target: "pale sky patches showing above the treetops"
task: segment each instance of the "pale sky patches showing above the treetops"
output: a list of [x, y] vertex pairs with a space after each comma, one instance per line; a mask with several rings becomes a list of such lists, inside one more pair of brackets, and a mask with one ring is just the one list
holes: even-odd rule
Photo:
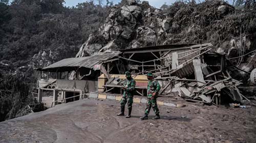
[[[86, 2], [87, 0], [65, 0], [66, 4], [64, 4], [67, 7], [76, 6], [78, 3]], [[118, 4], [121, 0], [110, 0], [110, 2], [113, 1], [114, 4]], [[175, 2], [175, 0], [147, 0], [151, 6], [154, 6], [156, 8], [160, 8], [164, 3], [167, 5], [171, 5]], [[97, 4], [97, 0], [95, 0], [95, 3]], [[103, 0], [105, 2], [105, 0]]]

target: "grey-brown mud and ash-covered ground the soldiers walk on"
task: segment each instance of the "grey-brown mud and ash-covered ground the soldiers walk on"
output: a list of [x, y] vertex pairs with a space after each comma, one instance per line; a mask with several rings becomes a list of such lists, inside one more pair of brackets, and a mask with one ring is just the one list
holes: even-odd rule
[[185, 104], [140, 121], [144, 104], [126, 119], [117, 101], [84, 99], [1, 122], [0, 142], [256, 142], [256, 108]]

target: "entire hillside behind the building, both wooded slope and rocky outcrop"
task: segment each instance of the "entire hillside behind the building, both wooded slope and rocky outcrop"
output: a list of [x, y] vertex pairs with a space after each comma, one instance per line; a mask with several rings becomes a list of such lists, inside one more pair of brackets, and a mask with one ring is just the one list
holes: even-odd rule
[[[73, 8], [63, 2], [0, 3], [2, 71], [23, 73], [34, 82], [33, 68], [98, 51], [211, 42], [217, 52], [232, 58], [256, 49], [253, 1], [245, 1], [239, 9], [216, 0], [176, 2], [162, 9], [135, 0], [115, 6], [90, 1]], [[250, 71], [254, 61], [245, 56], [232, 62]]]

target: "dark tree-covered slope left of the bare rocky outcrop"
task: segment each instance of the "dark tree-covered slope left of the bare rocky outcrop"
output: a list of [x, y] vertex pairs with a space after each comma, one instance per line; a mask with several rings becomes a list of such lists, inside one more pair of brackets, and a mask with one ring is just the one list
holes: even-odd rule
[[[5, 3], [4, 3], [5, 2]], [[90, 34], [97, 32], [109, 7], [93, 1], [76, 7], [63, 0], [14, 0], [0, 3], [0, 67], [22, 73], [34, 83], [33, 68], [74, 57]]]

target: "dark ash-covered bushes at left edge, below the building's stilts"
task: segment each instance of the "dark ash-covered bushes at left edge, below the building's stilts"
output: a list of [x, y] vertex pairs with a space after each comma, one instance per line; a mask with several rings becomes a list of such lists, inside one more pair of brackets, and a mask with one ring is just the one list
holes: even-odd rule
[[29, 84], [22, 75], [0, 73], [0, 121], [17, 118], [44, 108], [29, 93]]

